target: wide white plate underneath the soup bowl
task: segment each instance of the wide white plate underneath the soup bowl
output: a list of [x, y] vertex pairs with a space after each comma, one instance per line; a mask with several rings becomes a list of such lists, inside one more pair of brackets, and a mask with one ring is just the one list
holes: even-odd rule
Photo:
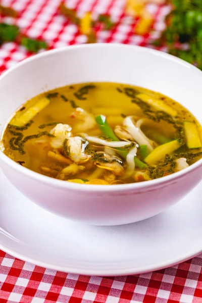
[[165, 268], [202, 252], [201, 184], [161, 215], [100, 227], [48, 213], [0, 172], [0, 248], [39, 266], [85, 275], [118, 276]]

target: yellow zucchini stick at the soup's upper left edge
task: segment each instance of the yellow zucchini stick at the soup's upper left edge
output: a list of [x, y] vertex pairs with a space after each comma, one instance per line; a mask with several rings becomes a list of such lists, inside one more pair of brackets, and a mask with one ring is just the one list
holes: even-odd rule
[[11, 124], [19, 127], [25, 126], [25, 124], [32, 120], [34, 116], [42, 111], [49, 103], [50, 100], [48, 98], [41, 98], [34, 106], [30, 107], [22, 115], [14, 118], [14, 120], [11, 121]]

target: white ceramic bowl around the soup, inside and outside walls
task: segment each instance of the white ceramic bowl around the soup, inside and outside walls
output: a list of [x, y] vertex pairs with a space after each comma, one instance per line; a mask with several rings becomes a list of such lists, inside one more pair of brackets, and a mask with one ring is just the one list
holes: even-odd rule
[[[27, 99], [79, 82], [120, 82], [160, 91], [188, 108], [201, 122], [202, 73], [153, 49], [120, 44], [68, 46], [33, 56], [0, 77], [0, 133]], [[201, 179], [202, 160], [170, 176], [123, 185], [82, 185], [45, 177], [0, 151], [5, 176], [48, 211], [94, 225], [136, 222], [165, 211]]]

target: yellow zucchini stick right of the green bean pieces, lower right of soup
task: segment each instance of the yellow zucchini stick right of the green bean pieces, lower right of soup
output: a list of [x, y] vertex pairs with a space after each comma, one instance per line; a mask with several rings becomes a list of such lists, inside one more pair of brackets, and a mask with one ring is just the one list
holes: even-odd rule
[[171, 142], [162, 144], [157, 148], [153, 149], [151, 153], [144, 159], [148, 165], [155, 165], [158, 161], [162, 160], [166, 154], [171, 154], [173, 151], [180, 147], [179, 140], [173, 140]]

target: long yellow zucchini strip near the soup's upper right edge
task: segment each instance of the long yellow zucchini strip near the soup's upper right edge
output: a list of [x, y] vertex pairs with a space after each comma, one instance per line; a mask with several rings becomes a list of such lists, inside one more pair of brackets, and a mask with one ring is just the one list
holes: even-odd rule
[[155, 108], [157, 111], [165, 112], [166, 114], [176, 117], [177, 111], [165, 104], [162, 100], [149, 96], [146, 93], [137, 94], [137, 98]]

